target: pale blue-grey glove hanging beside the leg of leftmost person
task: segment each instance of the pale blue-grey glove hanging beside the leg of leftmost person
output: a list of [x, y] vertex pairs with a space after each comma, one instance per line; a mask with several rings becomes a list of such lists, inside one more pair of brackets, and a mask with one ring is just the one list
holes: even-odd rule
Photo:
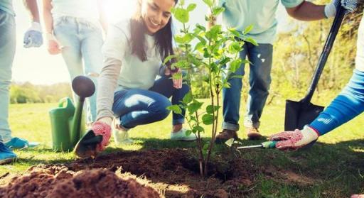
[[41, 23], [31, 23], [31, 28], [24, 35], [24, 48], [40, 47], [43, 44]]

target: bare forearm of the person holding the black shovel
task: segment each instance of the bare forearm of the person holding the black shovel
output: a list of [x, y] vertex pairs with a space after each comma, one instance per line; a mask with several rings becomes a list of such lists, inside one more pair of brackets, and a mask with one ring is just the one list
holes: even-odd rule
[[289, 16], [301, 21], [316, 21], [326, 18], [325, 6], [316, 5], [309, 1], [304, 1], [299, 6], [286, 10]]

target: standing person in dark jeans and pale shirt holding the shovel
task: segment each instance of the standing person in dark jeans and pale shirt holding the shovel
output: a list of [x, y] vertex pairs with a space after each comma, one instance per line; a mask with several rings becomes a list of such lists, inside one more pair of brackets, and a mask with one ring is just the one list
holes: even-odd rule
[[[343, 6], [348, 11], [353, 11], [357, 0], [333, 0], [326, 6], [319, 6], [305, 0], [281, 0], [286, 7], [289, 16], [301, 21], [314, 21], [322, 18], [330, 18], [336, 15], [338, 6]], [[220, 0], [223, 11], [223, 26], [235, 28], [240, 32], [238, 40], [253, 38], [258, 45], [245, 43], [244, 49], [240, 53], [240, 58], [250, 61], [249, 76], [249, 96], [247, 99], [247, 112], [244, 119], [247, 137], [250, 139], [260, 138], [258, 131], [260, 117], [264, 109], [265, 102], [269, 95], [269, 86], [272, 81], [272, 57], [273, 43], [277, 31], [277, 20], [275, 14], [279, 1], [235, 1]], [[210, 24], [211, 25], [211, 24]], [[252, 25], [252, 31], [244, 34], [245, 28]], [[228, 68], [229, 65], [226, 65]], [[244, 75], [244, 65], [232, 75]], [[221, 143], [230, 138], [237, 138], [240, 119], [240, 94], [242, 89], [242, 79], [228, 79], [230, 88], [223, 89], [223, 131], [216, 136], [215, 141]]]

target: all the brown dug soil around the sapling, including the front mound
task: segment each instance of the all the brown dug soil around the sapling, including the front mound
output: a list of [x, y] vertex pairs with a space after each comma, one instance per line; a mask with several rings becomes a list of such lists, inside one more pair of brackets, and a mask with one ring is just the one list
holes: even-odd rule
[[1, 187], [0, 197], [246, 197], [259, 173], [272, 174], [250, 160], [217, 156], [220, 161], [209, 165], [209, 176], [203, 179], [190, 151], [118, 152], [93, 160], [38, 165]]

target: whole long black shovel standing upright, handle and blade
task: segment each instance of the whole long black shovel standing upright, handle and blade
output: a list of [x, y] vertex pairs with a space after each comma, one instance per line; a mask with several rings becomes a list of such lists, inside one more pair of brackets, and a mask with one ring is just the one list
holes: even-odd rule
[[331, 26], [330, 33], [326, 39], [326, 43], [323, 46], [323, 51], [319, 58], [319, 63], [316, 66], [314, 77], [312, 78], [309, 91], [306, 96], [300, 101], [286, 100], [286, 114], [284, 119], [284, 131], [294, 131], [296, 128], [304, 128], [306, 124], [314, 121], [317, 116], [323, 111], [323, 106], [318, 106], [311, 103], [312, 96], [319, 82], [323, 67], [325, 67], [326, 60], [330, 54], [333, 42], [335, 41], [338, 29], [341, 26], [346, 10], [343, 6], [339, 6], [336, 12], [333, 25]]

